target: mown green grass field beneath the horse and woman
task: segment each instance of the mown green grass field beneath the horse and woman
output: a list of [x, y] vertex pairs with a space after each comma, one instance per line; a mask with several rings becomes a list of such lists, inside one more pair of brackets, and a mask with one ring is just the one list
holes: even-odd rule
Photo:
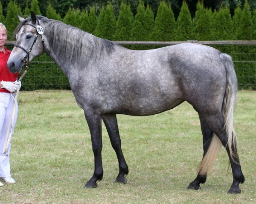
[[118, 116], [122, 149], [130, 173], [116, 184], [118, 163], [103, 125], [104, 176], [84, 189], [93, 175], [90, 134], [71, 91], [22, 91], [12, 141], [16, 184], [0, 187], [0, 204], [255, 204], [256, 91], [239, 91], [235, 129], [245, 183], [229, 195], [232, 174], [222, 148], [201, 190], [187, 190], [201, 161], [197, 113], [184, 102], [154, 116]]

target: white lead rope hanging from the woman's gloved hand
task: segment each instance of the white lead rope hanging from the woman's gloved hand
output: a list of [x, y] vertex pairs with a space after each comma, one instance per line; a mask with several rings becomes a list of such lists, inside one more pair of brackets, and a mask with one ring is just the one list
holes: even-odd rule
[[[29, 68], [29, 64], [26, 65], [26, 67], [27, 67], [27, 69], [23, 72], [23, 74], [20, 76], [18, 81], [20, 81], [25, 76], [25, 74], [27, 73], [27, 70]], [[11, 96], [14, 99], [14, 103], [12, 104], [12, 113], [11, 113], [11, 118], [10, 118], [8, 129], [7, 129], [6, 141], [5, 141], [4, 147], [3, 147], [3, 154], [7, 153], [10, 141], [12, 139], [12, 134], [13, 134], [13, 130], [14, 130], [14, 122], [15, 122], [16, 103], [17, 103], [17, 98], [18, 98], [18, 95], [19, 95], [19, 91], [20, 90], [16, 91], [15, 97], [12, 96], [12, 93], [11, 93]]]

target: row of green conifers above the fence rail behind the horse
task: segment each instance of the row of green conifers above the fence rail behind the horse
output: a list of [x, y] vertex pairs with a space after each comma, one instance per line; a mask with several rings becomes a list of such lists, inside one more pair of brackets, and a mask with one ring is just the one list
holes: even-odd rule
[[[32, 0], [31, 8], [26, 6], [24, 13], [15, 1], [11, 0], [6, 17], [3, 16], [0, 4], [0, 22], [12, 33], [19, 23], [17, 14], [26, 17], [30, 11], [41, 14], [38, 0]], [[130, 6], [124, 2], [121, 3], [117, 19], [111, 4], [102, 7], [99, 16], [96, 15], [94, 7], [90, 8], [90, 11], [69, 8], [61, 19], [60, 14], [57, 14], [49, 3], [46, 16], [108, 40], [256, 40], [256, 9], [252, 14], [247, 1], [243, 9], [240, 6], [235, 9], [233, 17], [227, 7], [212, 12], [210, 8], [205, 8], [202, 2], [198, 2], [195, 18], [192, 19], [186, 1], [183, 1], [177, 19], [171, 6], [165, 1], [160, 3], [155, 18], [152, 9], [145, 7], [143, 3], [139, 4], [137, 13], [133, 16]]]

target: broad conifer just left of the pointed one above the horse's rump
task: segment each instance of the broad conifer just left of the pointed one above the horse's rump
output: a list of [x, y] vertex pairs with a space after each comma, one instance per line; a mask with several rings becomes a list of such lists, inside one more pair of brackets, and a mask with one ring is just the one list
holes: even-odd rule
[[162, 1], [157, 9], [152, 39], [156, 41], [172, 41], [175, 39], [175, 17], [170, 6]]

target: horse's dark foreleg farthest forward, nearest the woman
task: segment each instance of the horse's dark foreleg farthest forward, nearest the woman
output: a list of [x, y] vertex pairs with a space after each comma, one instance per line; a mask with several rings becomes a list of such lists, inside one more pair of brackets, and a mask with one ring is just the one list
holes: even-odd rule
[[92, 178], [87, 181], [85, 187], [96, 188], [97, 181], [103, 177], [102, 168], [102, 117], [93, 111], [84, 111], [87, 124], [90, 129], [91, 141], [94, 154], [94, 172]]

